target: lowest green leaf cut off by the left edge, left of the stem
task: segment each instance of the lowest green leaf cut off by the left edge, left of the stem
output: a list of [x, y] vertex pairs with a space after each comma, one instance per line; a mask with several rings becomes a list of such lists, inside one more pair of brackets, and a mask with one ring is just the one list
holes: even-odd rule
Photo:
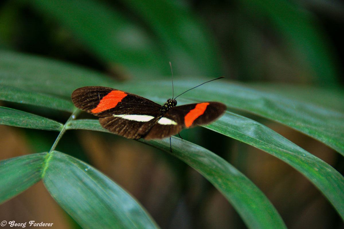
[[41, 180], [46, 153], [0, 161], [0, 203]]

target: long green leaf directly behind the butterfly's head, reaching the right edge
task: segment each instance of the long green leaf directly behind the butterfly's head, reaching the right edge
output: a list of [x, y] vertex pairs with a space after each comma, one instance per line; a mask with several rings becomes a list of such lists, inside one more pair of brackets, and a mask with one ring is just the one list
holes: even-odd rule
[[[182, 98], [178, 97], [178, 104], [194, 101], [220, 101], [229, 108], [257, 114], [290, 126], [344, 155], [344, 113], [305, 100], [283, 97], [278, 93], [258, 91], [244, 85], [219, 81], [202, 85], [197, 87], [197, 90], [183, 94]], [[175, 93], [177, 89], [183, 92], [200, 83], [202, 81], [175, 80]], [[125, 87], [153, 101], [158, 99], [163, 101], [163, 95], [168, 94], [166, 92], [168, 85], [171, 85], [168, 81], [150, 81], [130, 83]], [[154, 95], [149, 89], [154, 89]], [[185, 100], [185, 97], [188, 100]]]

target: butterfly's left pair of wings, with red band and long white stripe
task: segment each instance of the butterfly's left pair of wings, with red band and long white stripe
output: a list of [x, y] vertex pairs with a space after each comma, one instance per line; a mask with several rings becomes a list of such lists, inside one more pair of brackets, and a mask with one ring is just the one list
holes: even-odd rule
[[161, 105], [147, 98], [110, 87], [81, 87], [72, 93], [76, 107], [99, 116], [103, 128], [120, 136], [139, 139], [160, 114]]

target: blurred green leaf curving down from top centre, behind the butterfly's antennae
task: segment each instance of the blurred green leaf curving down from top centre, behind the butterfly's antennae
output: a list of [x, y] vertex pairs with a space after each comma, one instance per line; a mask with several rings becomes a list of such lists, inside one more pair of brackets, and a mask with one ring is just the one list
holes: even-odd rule
[[[168, 0], [121, 2], [138, 14], [161, 39], [174, 72], [211, 77], [220, 74], [215, 39], [187, 4]], [[166, 63], [162, 67], [169, 70]]]

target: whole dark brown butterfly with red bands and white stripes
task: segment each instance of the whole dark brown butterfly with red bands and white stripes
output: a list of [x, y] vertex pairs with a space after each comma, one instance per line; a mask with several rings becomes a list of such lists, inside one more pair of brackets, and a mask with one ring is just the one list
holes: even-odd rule
[[99, 117], [100, 125], [130, 139], [161, 139], [179, 134], [183, 128], [207, 124], [226, 110], [218, 102], [176, 106], [168, 99], [159, 105], [147, 98], [110, 87], [80, 87], [72, 93], [74, 105]]

